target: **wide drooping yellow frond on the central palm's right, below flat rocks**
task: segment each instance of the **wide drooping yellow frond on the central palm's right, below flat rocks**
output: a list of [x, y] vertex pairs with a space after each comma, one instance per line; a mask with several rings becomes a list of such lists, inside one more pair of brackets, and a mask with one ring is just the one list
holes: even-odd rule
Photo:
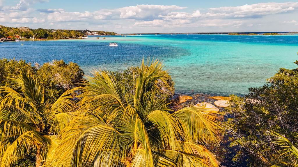
[[181, 135], [187, 142], [219, 144], [218, 111], [204, 107], [187, 107], [172, 114], [180, 124]]

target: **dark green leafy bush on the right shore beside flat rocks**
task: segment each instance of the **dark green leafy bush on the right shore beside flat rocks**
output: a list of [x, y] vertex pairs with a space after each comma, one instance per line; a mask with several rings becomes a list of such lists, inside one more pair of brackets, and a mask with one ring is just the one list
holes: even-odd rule
[[271, 166], [278, 150], [271, 131], [298, 145], [298, 69], [281, 68], [267, 85], [250, 92], [245, 98], [232, 96], [227, 132], [231, 145], [240, 149], [235, 160], [244, 157], [250, 166]]

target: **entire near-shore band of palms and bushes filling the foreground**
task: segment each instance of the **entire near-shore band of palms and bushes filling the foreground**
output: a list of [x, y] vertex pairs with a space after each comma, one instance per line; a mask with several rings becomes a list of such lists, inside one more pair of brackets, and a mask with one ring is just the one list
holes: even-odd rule
[[298, 167], [298, 68], [249, 91], [190, 105], [158, 60], [86, 76], [0, 59], [0, 167]]

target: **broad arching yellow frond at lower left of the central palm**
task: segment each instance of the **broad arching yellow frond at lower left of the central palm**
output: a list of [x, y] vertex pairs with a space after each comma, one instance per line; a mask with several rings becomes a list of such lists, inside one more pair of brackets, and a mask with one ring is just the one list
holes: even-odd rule
[[119, 132], [97, 116], [72, 120], [60, 136], [55, 156], [50, 156], [57, 159], [49, 160], [49, 166], [113, 166], [111, 162], [117, 164], [120, 160]]

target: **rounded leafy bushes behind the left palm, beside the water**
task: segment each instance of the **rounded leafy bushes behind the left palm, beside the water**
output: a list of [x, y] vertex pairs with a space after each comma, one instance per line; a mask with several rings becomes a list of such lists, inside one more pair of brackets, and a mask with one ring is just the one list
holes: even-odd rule
[[80, 86], [84, 82], [83, 71], [73, 62], [66, 64], [63, 60], [31, 66], [23, 60], [0, 59], [0, 86], [9, 86], [9, 77], [18, 76], [24, 71], [41, 82], [47, 101], [55, 101], [67, 89]]

